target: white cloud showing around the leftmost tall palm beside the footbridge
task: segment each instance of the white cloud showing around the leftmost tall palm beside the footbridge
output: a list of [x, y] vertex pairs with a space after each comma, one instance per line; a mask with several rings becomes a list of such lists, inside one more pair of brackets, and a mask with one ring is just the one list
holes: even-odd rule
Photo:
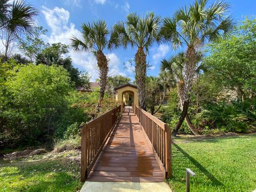
[[[44, 17], [47, 25], [51, 28], [51, 33], [49, 36], [44, 37], [44, 41], [49, 43], [64, 43], [70, 44], [70, 37], [72, 35], [77, 38], [82, 38], [81, 32], [76, 29], [74, 23], [68, 23], [69, 12], [63, 8], [54, 7], [54, 9], [48, 9], [43, 7]], [[50, 19], [52, 18], [52, 20]], [[75, 53], [70, 51], [70, 57], [76, 66], [79, 66], [86, 71], [88, 71], [91, 76], [91, 81], [95, 81], [98, 78], [98, 68], [97, 61], [89, 52], [79, 52]], [[121, 61], [115, 53], [108, 53], [106, 57], [109, 59], [109, 76], [114, 75], [125, 75], [120, 66]]]

